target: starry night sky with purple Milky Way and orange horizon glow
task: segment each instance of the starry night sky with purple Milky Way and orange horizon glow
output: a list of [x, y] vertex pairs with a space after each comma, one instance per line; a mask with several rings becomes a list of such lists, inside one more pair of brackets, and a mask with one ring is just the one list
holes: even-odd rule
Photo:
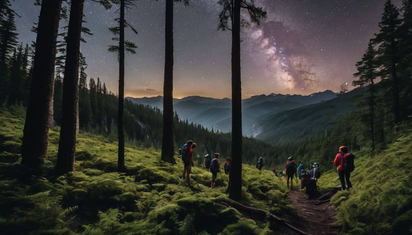
[[[174, 97], [231, 96], [231, 34], [218, 31], [218, 0], [191, 0], [190, 7], [174, 7]], [[40, 7], [34, 0], [15, 0], [19, 40], [35, 40], [30, 32]], [[385, 0], [255, 0], [267, 12], [261, 25], [242, 30], [242, 95], [309, 94], [353, 80], [355, 63], [378, 31]], [[400, 5], [400, 0], [395, 0]], [[126, 20], [138, 35], [126, 29], [126, 39], [138, 46], [125, 58], [125, 95], [163, 94], [164, 0], [139, 0], [126, 11]], [[117, 92], [117, 54], [108, 27], [115, 26], [114, 6], [105, 10], [85, 0], [84, 24], [94, 35], [83, 35], [88, 77], [100, 77]], [[61, 25], [68, 24], [61, 21]]]

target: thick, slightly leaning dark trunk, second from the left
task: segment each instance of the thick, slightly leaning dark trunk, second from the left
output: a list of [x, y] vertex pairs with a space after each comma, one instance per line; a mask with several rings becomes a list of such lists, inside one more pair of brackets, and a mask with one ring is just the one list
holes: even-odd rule
[[71, 0], [67, 32], [66, 63], [63, 78], [63, 105], [59, 151], [55, 170], [66, 173], [75, 170], [76, 126], [79, 102], [80, 37], [84, 0]]

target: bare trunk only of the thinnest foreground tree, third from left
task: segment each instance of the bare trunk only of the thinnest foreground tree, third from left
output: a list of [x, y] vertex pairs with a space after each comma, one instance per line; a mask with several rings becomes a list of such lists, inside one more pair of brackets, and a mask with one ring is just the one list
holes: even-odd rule
[[119, 151], [117, 168], [124, 172], [124, 0], [120, 0], [120, 32], [119, 32], [119, 105], [117, 107], [117, 135]]

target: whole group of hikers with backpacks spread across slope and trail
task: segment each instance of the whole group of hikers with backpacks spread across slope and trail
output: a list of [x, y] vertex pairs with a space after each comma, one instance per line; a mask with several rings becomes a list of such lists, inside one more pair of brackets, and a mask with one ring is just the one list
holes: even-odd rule
[[[183, 174], [182, 178], [186, 179], [187, 185], [190, 186], [190, 173], [192, 172], [192, 166], [194, 165], [193, 163], [193, 149], [197, 147], [197, 144], [194, 143], [192, 140], [188, 140], [186, 144], [183, 145], [181, 149], [179, 149], [179, 154], [182, 157], [182, 161], [184, 163], [184, 169], [183, 169]], [[219, 162], [219, 153], [215, 153], [213, 155], [213, 158], [209, 155], [206, 154], [204, 156], [205, 158], [205, 168], [210, 169], [212, 173], [212, 181], [211, 181], [211, 188], [215, 188], [215, 180], [220, 173], [220, 162]], [[339, 147], [339, 153], [335, 157], [335, 166], [337, 167], [337, 173], [341, 182], [341, 188], [342, 190], [345, 190], [346, 188], [351, 188], [352, 184], [350, 181], [350, 176], [351, 172], [354, 170], [355, 166], [353, 163], [353, 154], [348, 152], [348, 147], [346, 146], [341, 146]], [[231, 159], [226, 158], [225, 165], [224, 165], [224, 170], [225, 174], [229, 175], [230, 178], [230, 164]], [[263, 157], [260, 157], [259, 160], [256, 162], [256, 168], [258, 170], [262, 170], [263, 168]], [[279, 176], [279, 179], [283, 176], [283, 172], [279, 171], [276, 172], [276, 168], [272, 169], [272, 172], [276, 175]], [[295, 161], [293, 160], [293, 157], [289, 157], [288, 160], [286, 161], [286, 184], [289, 189], [289, 181], [290, 181], [290, 189], [293, 189], [293, 178], [294, 176], [296, 177], [296, 183], [297, 183], [297, 178], [300, 179], [300, 186], [301, 188], [305, 188], [305, 193], [311, 196], [315, 196], [317, 193], [317, 186], [316, 182], [318, 179], [321, 177], [321, 170], [319, 168], [318, 163], [309, 163], [309, 170], [305, 170], [303, 167], [303, 164], [299, 162], [298, 165], [295, 164]], [[221, 174], [221, 173], [220, 173]], [[346, 179], [346, 184], [345, 184], [345, 179]], [[346, 186], [347, 185], [347, 186]]]

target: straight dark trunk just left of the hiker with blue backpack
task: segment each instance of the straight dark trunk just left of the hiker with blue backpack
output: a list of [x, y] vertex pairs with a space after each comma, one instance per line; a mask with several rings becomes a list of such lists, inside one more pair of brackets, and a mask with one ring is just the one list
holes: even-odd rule
[[166, 0], [162, 157], [175, 164], [173, 144], [173, 0]]

